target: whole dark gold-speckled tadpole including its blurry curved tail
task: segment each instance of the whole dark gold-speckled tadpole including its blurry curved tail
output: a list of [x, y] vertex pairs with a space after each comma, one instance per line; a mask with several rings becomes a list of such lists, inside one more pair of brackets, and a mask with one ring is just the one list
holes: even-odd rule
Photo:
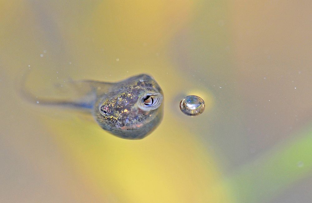
[[142, 139], [163, 118], [163, 91], [149, 75], [137, 75], [116, 83], [69, 81], [57, 95], [33, 94], [25, 89], [24, 83], [21, 95], [31, 103], [91, 113], [101, 128], [120, 138]]

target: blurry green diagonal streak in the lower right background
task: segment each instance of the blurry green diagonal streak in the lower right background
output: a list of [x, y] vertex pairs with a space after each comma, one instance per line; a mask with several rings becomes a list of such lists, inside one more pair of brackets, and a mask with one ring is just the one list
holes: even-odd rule
[[267, 202], [312, 169], [312, 130], [300, 139], [277, 146], [225, 180], [236, 202]]

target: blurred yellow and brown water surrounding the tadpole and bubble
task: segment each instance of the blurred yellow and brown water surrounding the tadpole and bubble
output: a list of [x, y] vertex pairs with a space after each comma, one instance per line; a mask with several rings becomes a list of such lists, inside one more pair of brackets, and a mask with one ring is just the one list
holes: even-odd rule
[[[310, 7], [1, 2], [0, 201], [312, 199]], [[147, 73], [163, 89], [163, 121], [130, 141], [89, 114], [29, 104], [17, 94], [29, 68], [35, 95]], [[185, 95], [205, 113], [181, 116]]]

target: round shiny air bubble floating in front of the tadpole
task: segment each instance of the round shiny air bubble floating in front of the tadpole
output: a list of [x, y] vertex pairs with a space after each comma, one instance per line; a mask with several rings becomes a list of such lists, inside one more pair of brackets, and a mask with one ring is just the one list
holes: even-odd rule
[[197, 116], [204, 112], [205, 102], [196, 95], [188, 95], [181, 100], [180, 109], [186, 115]]

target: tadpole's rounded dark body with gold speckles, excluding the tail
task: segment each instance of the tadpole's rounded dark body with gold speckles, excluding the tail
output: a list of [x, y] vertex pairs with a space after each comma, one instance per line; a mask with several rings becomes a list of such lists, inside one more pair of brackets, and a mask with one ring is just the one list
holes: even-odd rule
[[113, 84], [100, 95], [93, 116], [104, 130], [120, 138], [142, 139], [162, 120], [162, 101], [163, 91], [157, 82], [149, 75], [137, 75]]

